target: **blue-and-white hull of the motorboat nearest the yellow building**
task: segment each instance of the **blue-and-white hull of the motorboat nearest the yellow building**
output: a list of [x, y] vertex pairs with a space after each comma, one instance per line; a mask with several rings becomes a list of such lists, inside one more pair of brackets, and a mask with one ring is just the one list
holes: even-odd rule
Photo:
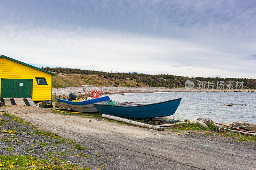
[[108, 96], [104, 96], [104, 97], [100, 97], [92, 100], [86, 100], [83, 102], [72, 102], [66, 99], [58, 99], [58, 101], [64, 108], [68, 108], [78, 112], [99, 112], [94, 107], [93, 103], [104, 103], [108, 100], [110, 100]]

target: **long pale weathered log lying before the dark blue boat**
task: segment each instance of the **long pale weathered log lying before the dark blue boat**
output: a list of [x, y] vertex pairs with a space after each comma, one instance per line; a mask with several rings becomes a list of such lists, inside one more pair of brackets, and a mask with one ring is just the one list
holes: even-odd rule
[[125, 119], [125, 118], [117, 117], [117, 116], [112, 116], [112, 115], [103, 114], [101, 116], [106, 117], [108, 119], [117, 120], [117, 121], [120, 121], [120, 122], [125, 122], [125, 123], [128, 123], [128, 124], [132, 124], [132, 125], [135, 125], [135, 126], [146, 127], [146, 128], [150, 128], [150, 129], [158, 130], [158, 131], [164, 131], [164, 128], [160, 127], [160, 126], [154, 126], [154, 125], [151, 125], [151, 124], [144, 124], [144, 123], [137, 122], [137, 121], [134, 121], [134, 120], [129, 120], [129, 119]]

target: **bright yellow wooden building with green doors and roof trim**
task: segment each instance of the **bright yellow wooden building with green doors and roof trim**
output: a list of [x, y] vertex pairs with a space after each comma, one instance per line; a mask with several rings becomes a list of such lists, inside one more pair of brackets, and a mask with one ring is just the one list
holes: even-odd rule
[[52, 76], [55, 74], [1, 55], [0, 100], [32, 98], [33, 101], [51, 101]]

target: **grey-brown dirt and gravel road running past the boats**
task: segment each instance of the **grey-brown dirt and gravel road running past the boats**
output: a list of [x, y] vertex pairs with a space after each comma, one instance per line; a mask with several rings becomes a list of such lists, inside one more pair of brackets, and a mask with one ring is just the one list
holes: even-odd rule
[[256, 168], [255, 142], [204, 132], [153, 131], [104, 120], [60, 115], [32, 106], [5, 106], [4, 109], [47, 131], [108, 152], [114, 158], [109, 159], [104, 169]]

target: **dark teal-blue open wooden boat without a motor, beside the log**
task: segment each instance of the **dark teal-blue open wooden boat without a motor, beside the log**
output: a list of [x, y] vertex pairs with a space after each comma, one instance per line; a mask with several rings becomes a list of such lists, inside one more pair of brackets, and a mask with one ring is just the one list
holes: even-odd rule
[[[114, 115], [120, 117], [163, 117], [170, 116], [175, 113], [180, 105], [181, 98], [168, 100], [152, 104], [123, 104], [123, 105], [110, 105], [107, 102], [104, 104], [93, 104], [101, 114]], [[115, 104], [111, 102], [111, 104]]]

